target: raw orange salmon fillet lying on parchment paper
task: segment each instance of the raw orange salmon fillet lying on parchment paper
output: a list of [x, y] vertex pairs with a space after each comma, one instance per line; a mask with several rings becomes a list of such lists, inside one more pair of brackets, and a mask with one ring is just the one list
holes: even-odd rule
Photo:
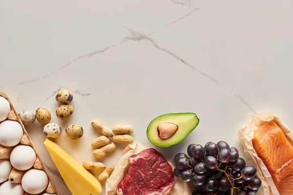
[[254, 131], [253, 148], [268, 168], [280, 195], [293, 195], [293, 146], [274, 122]]

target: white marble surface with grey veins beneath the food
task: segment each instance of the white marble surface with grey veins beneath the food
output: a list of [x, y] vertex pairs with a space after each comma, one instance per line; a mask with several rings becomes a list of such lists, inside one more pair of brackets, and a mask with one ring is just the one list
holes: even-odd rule
[[[56, 139], [81, 163], [95, 160], [93, 119], [132, 125], [135, 141], [153, 147], [146, 127], [154, 117], [195, 112], [200, 123], [182, 143], [156, 147], [169, 160], [190, 143], [242, 148], [236, 134], [253, 113], [273, 110], [293, 128], [292, 7], [291, 0], [1, 0], [0, 91], [18, 112], [45, 107], [63, 129], [82, 125], [82, 139]], [[65, 121], [55, 116], [61, 89], [74, 93]], [[42, 127], [26, 129], [57, 189], [70, 195]], [[102, 162], [115, 164], [125, 147]]]

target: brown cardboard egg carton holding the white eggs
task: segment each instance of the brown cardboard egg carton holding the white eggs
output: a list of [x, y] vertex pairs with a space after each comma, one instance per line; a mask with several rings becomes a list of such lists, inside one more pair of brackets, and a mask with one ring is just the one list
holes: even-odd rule
[[[21, 119], [20, 119], [20, 117], [17, 115], [17, 113], [16, 113], [16, 111], [15, 111], [15, 109], [14, 109], [14, 107], [13, 107], [11, 101], [10, 101], [10, 99], [9, 99], [8, 96], [7, 96], [5, 93], [3, 93], [3, 92], [0, 92], [0, 96], [2, 96], [3, 98], [6, 98], [6, 99], [8, 100], [8, 102], [10, 103], [11, 111], [10, 111], [10, 113], [9, 113], [9, 115], [8, 115], [8, 117], [7, 117], [7, 119], [9, 119], [9, 120], [15, 120], [15, 121], [19, 122], [19, 123], [21, 124], [22, 129], [23, 129], [23, 136], [22, 136], [22, 138], [21, 138], [21, 142], [20, 142], [19, 144], [15, 145], [15, 146], [12, 146], [12, 147], [5, 147], [5, 146], [1, 146], [1, 145], [0, 145], [0, 159], [9, 159], [9, 158], [10, 158], [10, 153], [11, 153], [11, 151], [12, 151], [16, 146], [18, 146], [18, 145], [23, 144], [23, 145], [29, 145], [29, 146], [31, 146], [31, 147], [34, 149], [37, 158], [36, 158], [36, 161], [35, 161], [34, 166], [33, 166], [32, 168], [30, 168], [30, 169], [39, 169], [39, 170], [43, 170], [43, 171], [47, 174], [48, 179], [49, 179], [49, 184], [48, 184], [46, 190], [44, 190], [42, 193], [40, 193], [40, 194], [38, 194], [38, 195], [42, 195], [42, 194], [44, 194], [44, 193], [52, 194], [52, 195], [53, 195], [53, 194], [60, 195], [59, 192], [57, 191], [56, 187], [54, 186], [54, 184], [53, 184], [53, 182], [52, 182], [52, 178], [51, 178], [51, 176], [49, 175], [49, 173], [48, 173], [46, 167], [45, 167], [44, 164], [42, 163], [42, 160], [41, 160], [41, 158], [40, 158], [40, 156], [39, 156], [39, 154], [38, 154], [38, 152], [37, 152], [35, 146], [33, 145], [33, 143], [32, 143], [32, 141], [31, 141], [30, 137], [28, 136], [28, 134], [27, 134], [27, 132], [26, 132], [26, 130], [25, 130], [25, 128], [24, 128], [22, 122], [21, 122]], [[7, 120], [7, 119], [6, 119], [6, 120]], [[13, 167], [13, 168], [12, 168], [12, 171], [11, 171], [9, 177], [8, 177], [8, 181], [10, 181], [11, 183], [18, 183], [18, 184], [20, 184], [20, 183], [21, 183], [21, 178], [22, 178], [22, 176], [25, 174], [25, 172], [29, 171], [30, 169], [25, 170], [25, 171], [19, 171], [19, 170], [15, 169], [15, 168]], [[4, 181], [4, 182], [6, 182], [6, 181]], [[4, 183], [4, 182], [2, 182], [2, 183]], [[2, 183], [0, 183], [0, 185], [1, 185]], [[25, 193], [25, 195], [30, 195], [30, 194]]]

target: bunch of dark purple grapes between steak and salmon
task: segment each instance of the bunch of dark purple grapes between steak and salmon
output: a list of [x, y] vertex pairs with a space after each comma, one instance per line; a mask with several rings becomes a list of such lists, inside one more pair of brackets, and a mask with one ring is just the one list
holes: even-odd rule
[[175, 155], [174, 175], [200, 187], [192, 195], [256, 195], [261, 186], [256, 168], [246, 166], [237, 148], [225, 141], [190, 144], [187, 153]]

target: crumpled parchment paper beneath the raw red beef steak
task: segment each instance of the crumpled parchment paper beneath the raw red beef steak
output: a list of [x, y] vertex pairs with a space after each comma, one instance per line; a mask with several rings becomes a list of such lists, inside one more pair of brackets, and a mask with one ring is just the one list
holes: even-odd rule
[[[132, 155], [136, 155], [146, 148], [139, 143], [128, 145], [122, 155], [120, 156], [112, 175], [106, 181], [105, 195], [116, 195], [117, 186], [129, 167], [128, 158]], [[169, 163], [174, 169], [174, 166]], [[175, 186], [171, 191], [171, 195], [191, 195], [188, 184], [181, 178], [174, 176]]]

